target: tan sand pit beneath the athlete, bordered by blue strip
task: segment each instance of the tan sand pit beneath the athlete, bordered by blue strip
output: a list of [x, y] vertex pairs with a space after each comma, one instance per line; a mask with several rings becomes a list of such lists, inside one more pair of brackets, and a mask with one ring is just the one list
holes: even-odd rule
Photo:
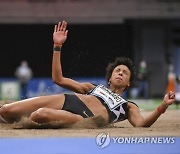
[[[141, 112], [144, 117], [151, 111]], [[102, 127], [101, 118], [89, 119], [71, 126], [36, 126], [22, 123], [0, 124], [0, 137], [36, 138], [36, 137], [96, 137], [99, 133], [109, 132], [111, 136], [180, 136], [180, 110], [167, 112], [149, 128], [135, 128], [127, 120]], [[33, 128], [34, 127], [34, 128]]]

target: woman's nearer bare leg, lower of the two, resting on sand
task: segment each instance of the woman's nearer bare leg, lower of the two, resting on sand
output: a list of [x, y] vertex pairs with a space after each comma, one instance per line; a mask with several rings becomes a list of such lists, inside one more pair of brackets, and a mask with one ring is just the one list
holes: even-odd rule
[[68, 111], [50, 108], [40, 108], [34, 111], [29, 118], [37, 123], [60, 121], [62, 124], [72, 124], [84, 119], [82, 116]]

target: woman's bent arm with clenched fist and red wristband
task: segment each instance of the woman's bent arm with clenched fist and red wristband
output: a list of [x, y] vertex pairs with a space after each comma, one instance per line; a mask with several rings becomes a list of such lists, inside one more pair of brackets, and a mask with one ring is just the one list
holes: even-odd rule
[[173, 102], [175, 102], [175, 93], [169, 92], [165, 95], [162, 104], [157, 108], [157, 110], [146, 118], [143, 118], [136, 105], [129, 104], [128, 120], [134, 127], [150, 127]]

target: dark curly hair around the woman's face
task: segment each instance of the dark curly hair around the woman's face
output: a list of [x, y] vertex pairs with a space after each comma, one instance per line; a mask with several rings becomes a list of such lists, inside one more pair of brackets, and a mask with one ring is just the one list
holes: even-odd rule
[[113, 70], [118, 65], [125, 65], [129, 68], [129, 70], [131, 72], [130, 82], [132, 82], [134, 79], [134, 76], [135, 76], [135, 67], [133, 66], [132, 60], [127, 57], [117, 57], [114, 62], [109, 63], [106, 67], [106, 83], [108, 84]]

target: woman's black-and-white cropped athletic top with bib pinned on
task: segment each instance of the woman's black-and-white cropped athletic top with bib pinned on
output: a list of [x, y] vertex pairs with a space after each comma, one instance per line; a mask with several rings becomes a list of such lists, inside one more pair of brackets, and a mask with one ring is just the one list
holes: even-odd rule
[[93, 95], [100, 100], [106, 107], [109, 114], [109, 122], [115, 123], [127, 119], [128, 116], [128, 101], [120, 95], [112, 92], [104, 85], [100, 84], [88, 92], [88, 95]]

